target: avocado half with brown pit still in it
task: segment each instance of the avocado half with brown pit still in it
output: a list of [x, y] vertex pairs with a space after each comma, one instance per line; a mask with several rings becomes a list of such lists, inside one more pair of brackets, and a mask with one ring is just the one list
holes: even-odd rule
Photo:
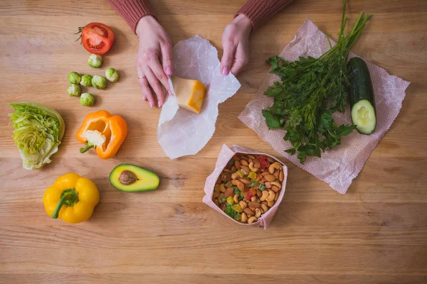
[[156, 190], [159, 182], [158, 175], [137, 165], [120, 164], [110, 173], [111, 185], [125, 192]]

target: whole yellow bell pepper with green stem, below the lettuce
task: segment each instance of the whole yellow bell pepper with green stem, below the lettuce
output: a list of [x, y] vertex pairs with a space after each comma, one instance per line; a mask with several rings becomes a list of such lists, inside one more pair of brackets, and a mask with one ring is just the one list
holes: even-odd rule
[[46, 213], [68, 223], [89, 219], [99, 201], [100, 192], [95, 183], [76, 173], [61, 175], [43, 195]]

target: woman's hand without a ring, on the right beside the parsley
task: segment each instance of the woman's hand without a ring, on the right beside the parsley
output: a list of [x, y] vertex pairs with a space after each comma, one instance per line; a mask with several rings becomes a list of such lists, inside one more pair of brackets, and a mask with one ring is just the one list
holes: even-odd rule
[[237, 75], [249, 62], [249, 34], [252, 30], [251, 20], [240, 14], [224, 29], [222, 36], [223, 57], [221, 73], [228, 75], [231, 71]]

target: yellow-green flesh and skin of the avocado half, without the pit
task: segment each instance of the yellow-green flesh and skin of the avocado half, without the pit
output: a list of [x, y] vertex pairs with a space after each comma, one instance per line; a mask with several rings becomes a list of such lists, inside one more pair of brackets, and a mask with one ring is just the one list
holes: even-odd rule
[[[119, 182], [119, 175], [123, 170], [130, 170], [132, 173], [137, 175], [138, 181], [132, 185], [122, 185]], [[147, 181], [142, 181], [147, 179]], [[157, 190], [159, 187], [159, 176], [149, 170], [141, 168], [137, 165], [132, 164], [120, 164], [116, 165], [110, 173], [110, 184], [115, 187], [117, 190], [123, 192], [141, 192], [149, 190]]]

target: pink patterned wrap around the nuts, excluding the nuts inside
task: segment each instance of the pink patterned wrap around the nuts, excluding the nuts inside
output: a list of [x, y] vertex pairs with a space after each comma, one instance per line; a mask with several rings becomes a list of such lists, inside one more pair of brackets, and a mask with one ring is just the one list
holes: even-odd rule
[[216, 180], [218, 180], [219, 175], [221, 175], [224, 168], [226, 168], [226, 165], [228, 161], [233, 158], [233, 155], [236, 155], [236, 153], [245, 153], [245, 154], [256, 154], [256, 155], [265, 155], [266, 157], [273, 158], [273, 160], [278, 161], [280, 164], [283, 165], [283, 163], [274, 158], [272, 155], [268, 155], [265, 153], [260, 153], [258, 151], [233, 145], [230, 148], [226, 146], [226, 144], [223, 144], [221, 148], [221, 152], [218, 155], [218, 160], [216, 160], [215, 170], [214, 172], [209, 175], [208, 178], [206, 178], [204, 192], [206, 195], [203, 197], [203, 202], [207, 204], [209, 207], [214, 209], [216, 212], [219, 212], [220, 214], [223, 214], [225, 217], [233, 220], [233, 222], [236, 222], [237, 224], [243, 225], [243, 226], [264, 226], [264, 229], [267, 229], [267, 227], [270, 225], [270, 222], [273, 220], [275, 212], [278, 210], [278, 207], [280, 205], [280, 202], [283, 200], [283, 195], [285, 195], [285, 188], [286, 188], [286, 180], [288, 180], [288, 168], [286, 165], [283, 165], [283, 173], [285, 174], [285, 179], [282, 182], [282, 189], [280, 190], [280, 195], [278, 197], [278, 200], [275, 202], [273, 207], [271, 207], [267, 212], [265, 212], [261, 217], [258, 219], [257, 222], [254, 222], [252, 224], [243, 224], [241, 222], [237, 222], [235, 219], [229, 217], [226, 213], [224, 213], [221, 208], [216, 206], [216, 204], [212, 201], [212, 195], [214, 195], [214, 187]]

